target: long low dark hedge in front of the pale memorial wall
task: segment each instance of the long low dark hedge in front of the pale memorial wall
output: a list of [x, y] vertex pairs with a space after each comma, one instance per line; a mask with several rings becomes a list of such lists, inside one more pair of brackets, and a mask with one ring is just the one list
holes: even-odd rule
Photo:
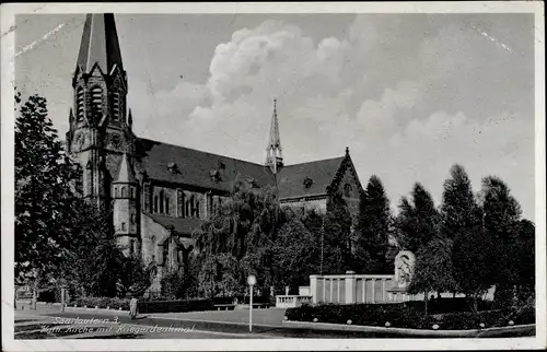
[[[423, 310], [406, 304], [354, 304], [354, 305], [303, 305], [289, 308], [288, 320], [314, 321], [330, 324], [351, 324], [361, 326], [385, 327], [388, 322], [394, 328], [462, 330], [488, 327], [508, 326], [512, 320], [515, 325], [535, 322], [535, 309], [522, 312], [484, 310], [423, 315]], [[480, 325], [484, 324], [484, 327]]]

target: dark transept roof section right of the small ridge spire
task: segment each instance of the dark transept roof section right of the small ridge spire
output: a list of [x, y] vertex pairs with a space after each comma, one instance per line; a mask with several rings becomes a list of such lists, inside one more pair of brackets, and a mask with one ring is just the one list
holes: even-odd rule
[[326, 195], [345, 156], [287, 165], [278, 174], [279, 198]]

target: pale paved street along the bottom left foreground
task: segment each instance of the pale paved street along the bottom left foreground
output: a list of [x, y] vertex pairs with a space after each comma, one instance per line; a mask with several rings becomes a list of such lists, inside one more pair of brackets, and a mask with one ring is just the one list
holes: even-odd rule
[[[258, 312], [258, 313], [257, 313]], [[351, 331], [321, 331], [312, 329], [294, 329], [281, 326], [284, 309], [253, 309], [253, 332], [248, 332], [248, 310], [228, 312], [195, 312], [168, 314], [142, 314], [131, 320], [127, 312], [102, 309], [74, 309], [68, 307], [59, 312], [58, 306], [38, 307], [38, 310], [15, 310], [15, 339], [59, 339], [59, 338], [124, 338], [124, 339], [271, 339], [271, 338], [380, 338], [375, 333]], [[255, 313], [256, 318], [255, 318]], [[54, 331], [54, 335], [40, 333], [40, 324], [55, 328], [56, 322], [62, 322], [67, 328], [68, 319], [101, 319], [106, 324], [79, 324], [79, 328], [88, 327], [84, 331]], [[24, 321], [36, 319], [36, 321]], [[73, 321], [73, 320], [71, 320]], [[117, 321], [121, 328], [112, 327]], [[26, 328], [34, 325], [34, 328]], [[110, 327], [110, 329], [106, 329]], [[171, 328], [172, 331], [158, 332], [158, 328]], [[93, 329], [91, 329], [93, 328]], [[25, 330], [26, 329], [26, 330]], [[28, 330], [31, 329], [31, 330]], [[177, 330], [178, 329], [178, 330]], [[37, 331], [36, 331], [37, 330]], [[163, 330], [163, 329], [160, 329]], [[71, 336], [71, 337], [69, 337]]]

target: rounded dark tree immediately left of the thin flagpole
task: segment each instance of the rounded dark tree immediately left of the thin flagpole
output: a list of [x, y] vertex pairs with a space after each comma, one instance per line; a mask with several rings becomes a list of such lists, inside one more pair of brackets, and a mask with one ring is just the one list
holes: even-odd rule
[[318, 273], [319, 243], [316, 237], [294, 219], [279, 231], [274, 246], [274, 266], [280, 286], [292, 290], [310, 282]]

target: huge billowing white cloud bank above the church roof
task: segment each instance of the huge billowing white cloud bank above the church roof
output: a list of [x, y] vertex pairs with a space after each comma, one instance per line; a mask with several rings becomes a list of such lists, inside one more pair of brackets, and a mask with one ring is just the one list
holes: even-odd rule
[[476, 190], [482, 176], [504, 179], [533, 219], [534, 121], [508, 107], [511, 87], [496, 81], [514, 64], [473, 28], [412, 37], [406, 20], [385, 19], [357, 16], [347, 37], [316, 42], [276, 21], [236, 31], [217, 46], [203, 84], [132, 83], [131, 106], [152, 138], [260, 163], [277, 97], [288, 163], [348, 145], [361, 181], [379, 175], [393, 206], [415, 181], [439, 202], [461, 163]]

